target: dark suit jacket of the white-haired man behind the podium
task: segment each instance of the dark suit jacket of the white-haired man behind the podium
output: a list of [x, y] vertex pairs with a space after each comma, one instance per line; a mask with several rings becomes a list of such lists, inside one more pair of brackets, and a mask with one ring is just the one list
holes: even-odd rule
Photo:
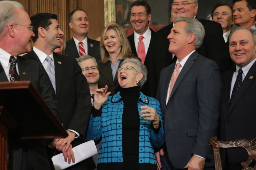
[[[60, 119], [59, 111], [56, 106], [57, 101], [51, 90], [52, 85], [49, 83], [48, 75], [44, 71], [41, 63], [17, 56], [17, 64], [20, 79], [30, 80], [57, 118]], [[26, 74], [22, 74], [24, 72]], [[9, 81], [1, 64], [0, 81]], [[9, 140], [8, 169], [21, 169], [21, 166], [25, 167], [25, 169], [30, 168], [30, 166], [38, 170], [49, 169], [50, 164], [45, 149], [46, 145], [44, 140]]]

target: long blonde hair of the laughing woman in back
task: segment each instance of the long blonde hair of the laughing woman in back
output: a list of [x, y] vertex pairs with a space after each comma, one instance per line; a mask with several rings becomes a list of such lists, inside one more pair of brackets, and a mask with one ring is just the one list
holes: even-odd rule
[[108, 51], [106, 50], [106, 48], [104, 46], [104, 39], [105, 39], [106, 32], [108, 30], [111, 30], [111, 29], [115, 30], [117, 32], [117, 35], [120, 39], [122, 59], [124, 60], [126, 58], [129, 58], [129, 57], [133, 56], [132, 50], [130, 48], [130, 43], [129, 43], [127, 37], [126, 37], [126, 34], [123, 31], [123, 28], [121, 26], [117, 25], [117, 24], [110, 25], [110, 26], [107, 26], [102, 31], [102, 34], [101, 34], [100, 52], [101, 52], [101, 62], [103, 64], [106, 64], [110, 59], [110, 55], [109, 55]]

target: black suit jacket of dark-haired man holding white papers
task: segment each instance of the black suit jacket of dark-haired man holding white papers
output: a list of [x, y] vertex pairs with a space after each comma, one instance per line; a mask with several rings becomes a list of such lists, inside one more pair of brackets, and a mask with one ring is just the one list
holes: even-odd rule
[[[38, 56], [33, 50], [23, 57], [39, 61]], [[81, 137], [84, 137], [91, 112], [89, 85], [75, 58], [57, 53], [53, 53], [53, 58], [56, 98], [63, 127], [66, 130], [75, 130]], [[44, 72], [46, 71], [44, 70]], [[50, 81], [49, 77], [48, 81]], [[55, 95], [52, 86], [51, 88], [52, 93]]]

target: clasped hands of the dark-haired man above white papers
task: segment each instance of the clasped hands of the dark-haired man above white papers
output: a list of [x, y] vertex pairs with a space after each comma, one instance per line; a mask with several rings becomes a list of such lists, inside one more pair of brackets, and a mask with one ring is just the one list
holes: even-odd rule
[[71, 160], [75, 163], [75, 155], [73, 152], [73, 148], [71, 142], [75, 139], [75, 133], [71, 131], [67, 131], [68, 137], [66, 138], [56, 138], [53, 141], [52, 147], [56, 148], [58, 151], [62, 151], [65, 162], [70, 164]]

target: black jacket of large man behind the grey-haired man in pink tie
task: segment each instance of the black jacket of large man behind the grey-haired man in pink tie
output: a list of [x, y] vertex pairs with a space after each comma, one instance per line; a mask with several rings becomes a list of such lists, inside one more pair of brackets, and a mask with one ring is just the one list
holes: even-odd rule
[[[220, 72], [230, 69], [230, 67], [226, 66], [225, 64], [226, 58], [229, 56], [227, 56], [228, 52], [225, 48], [225, 41], [223, 38], [223, 30], [221, 25], [217, 22], [205, 19], [199, 19], [199, 21], [204, 26], [205, 36], [203, 44], [201, 47], [199, 47], [199, 49], [197, 49], [198, 53], [215, 61], [220, 68]], [[172, 54], [168, 50], [170, 42], [169, 39], [167, 39], [171, 29], [172, 23], [160, 29], [154, 35], [153, 52], [157, 84], [159, 82], [159, 75], [161, 70], [164, 67], [169, 66], [169, 64], [172, 62]]]

